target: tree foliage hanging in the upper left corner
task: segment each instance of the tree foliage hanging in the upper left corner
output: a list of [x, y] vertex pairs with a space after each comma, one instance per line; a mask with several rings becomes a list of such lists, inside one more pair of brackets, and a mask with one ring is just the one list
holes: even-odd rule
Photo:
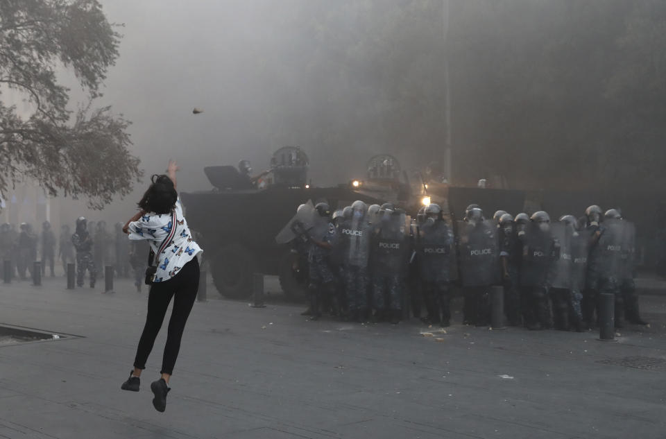
[[57, 75], [74, 71], [92, 103], [119, 41], [96, 0], [0, 0], [0, 85], [35, 107], [26, 117], [0, 101], [0, 193], [28, 178], [101, 208], [133, 189], [142, 171], [128, 150], [129, 122], [110, 107], [73, 112]]

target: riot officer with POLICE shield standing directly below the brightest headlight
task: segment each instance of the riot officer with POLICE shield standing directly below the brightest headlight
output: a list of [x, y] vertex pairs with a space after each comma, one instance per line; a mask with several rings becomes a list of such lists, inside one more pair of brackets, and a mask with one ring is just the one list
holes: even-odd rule
[[449, 271], [454, 236], [439, 205], [428, 205], [423, 214], [416, 249], [418, 275], [428, 311], [426, 322], [447, 327], [451, 322]]

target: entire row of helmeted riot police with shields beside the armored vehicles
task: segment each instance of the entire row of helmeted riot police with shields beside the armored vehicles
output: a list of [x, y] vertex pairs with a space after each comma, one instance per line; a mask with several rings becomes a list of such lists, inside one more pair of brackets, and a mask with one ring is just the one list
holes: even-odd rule
[[301, 205], [290, 223], [292, 244], [307, 260], [310, 307], [355, 321], [390, 320], [411, 308], [429, 324], [450, 324], [452, 284], [463, 292], [463, 323], [489, 324], [491, 286], [504, 287], [509, 325], [576, 329], [596, 323], [600, 293], [615, 295], [615, 324], [644, 324], [633, 285], [633, 224], [615, 209], [590, 206], [581, 219], [551, 222], [546, 212], [484, 218], [470, 205], [462, 221], [441, 207], [414, 220], [386, 203], [362, 201], [336, 212]]

